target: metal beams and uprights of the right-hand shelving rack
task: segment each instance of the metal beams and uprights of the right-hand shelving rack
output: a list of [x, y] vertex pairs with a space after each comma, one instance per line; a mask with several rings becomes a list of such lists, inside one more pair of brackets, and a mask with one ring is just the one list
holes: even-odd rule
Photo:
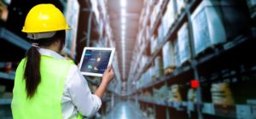
[[[218, 117], [229, 117], [229, 118], [236, 118], [241, 117], [241, 112], [239, 112], [240, 108], [242, 107], [244, 110], [250, 110], [251, 105], [230, 105], [230, 106], [223, 106], [223, 105], [214, 105], [212, 103], [203, 102], [202, 100], [202, 92], [201, 92], [201, 86], [197, 88], [197, 102], [192, 103], [189, 101], [182, 101], [182, 102], [168, 102], [167, 99], [165, 100], [154, 100], [154, 99], [143, 99], [139, 98], [138, 95], [143, 94], [146, 90], [152, 90], [152, 88], [159, 88], [160, 86], [167, 85], [167, 83], [177, 82], [176, 77], [180, 77], [183, 75], [186, 75], [191, 73], [191, 77], [198, 80], [199, 82], [205, 82], [201, 79], [201, 71], [199, 71], [198, 68], [200, 68], [201, 65], [206, 65], [212, 62], [212, 59], [218, 59], [219, 57], [224, 57], [225, 54], [234, 54], [235, 48], [241, 47], [244, 43], [253, 42], [253, 39], [255, 39], [255, 33], [256, 31], [252, 28], [252, 32], [249, 32], [247, 34], [241, 35], [239, 37], [236, 37], [232, 41], [225, 42], [223, 44], [223, 48], [215, 48], [212, 49], [211, 53], [204, 54], [203, 56], [196, 56], [195, 51], [195, 45], [194, 45], [194, 36], [193, 36], [193, 30], [192, 30], [192, 22], [191, 22], [191, 14], [194, 12], [195, 8], [201, 3], [202, 0], [191, 0], [189, 1], [188, 5], [184, 9], [183, 13], [179, 15], [177, 20], [175, 21], [174, 25], [172, 25], [171, 29], [169, 29], [167, 35], [164, 37], [164, 40], [162, 43], [158, 44], [158, 47], [156, 48], [155, 52], [151, 54], [149, 57], [147, 64], [143, 65], [143, 68], [141, 70], [137, 70], [137, 74], [135, 74], [135, 81], [139, 81], [140, 77], [142, 77], [143, 73], [148, 70], [148, 68], [152, 65], [154, 62], [154, 59], [156, 56], [158, 56], [161, 52], [161, 49], [165, 45], [167, 41], [170, 39], [174, 39], [177, 31], [179, 28], [183, 25], [184, 22], [188, 22], [189, 25], [189, 45], [190, 45], [190, 51], [192, 54], [192, 59], [189, 64], [182, 65], [181, 67], [177, 67], [172, 73], [166, 74], [161, 77], [157, 77], [157, 80], [155, 82], [150, 82], [147, 85], [141, 87], [141, 88], [135, 88], [133, 90], [133, 93], [129, 94], [131, 99], [135, 100], [136, 102], [140, 102], [142, 107], [149, 106], [154, 108], [154, 113], [156, 112], [156, 107], [166, 107], [166, 112], [161, 112], [160, 115], [165, 115], [166, 118], [172, 118], [170, 116], [169, 108], [174, 108], [177, 111], [192, 111], [195, 112], [197, 115], [197, 118], [202, 119], [205, 118], [205, 116], [218, 116]], [[163, 3], [167, 3], [167, 0], [165, 0]], [[161, 16], [163, 14], [164, 9], [166, 8], [166, 5], [162, 5], [160, 9], [160, 14], [157, 15], [157, 18], [154, 22], [154, 27], [151, 29], [151, 36], [154, 34], [155, 30], [160, 24]], [[148, 19], [148, 18], [147, 18]], [[148, 22], [148, 20], [146, 20]], [[147, 23], [148, 24], [148, 23]], [[150, 44], [150, 41], [146, 42], [146, 47], [143, 47], [141, 51], [138, 51], [138, 53], [141, 53], [144, 51], [148, 44]], [[135, 54], [137, 51], [135, 51]], [[143, 53], [141, 53], [143, 54]], [[137, 62], [135, 62], [137, 64]], [[254, 64], [255, 65], [255, 64]], [[254, 66], [255, 67], [255, 66]], [[219, 69], [219, 68], [218, 68]], [[221, 69], [221, 68], [220, 68]], [[201, 70], [201, 69], [200, 69]], [[247, 72], [256, 72], [255, 68], [251, 68], [250, 70], [244, 71]], [[241, 76], [243, 73], [230, 76], [230, 77], [236, 77]], [[192, 78], [191, 78], [192, 79]], [[180, 81], [179, 81], [180, 82]], [[183, 81], [185, 83], [189, 83], [189, 81]], [[151, 91], [149, 91], [151, 92]], [[209, 108], [212, 109], [212, 111], [209, 111]], [[230, 113], [227, 113], [226, 111], [230, 111]], [[166, 113], [166, 114], [165, 114]], [[247, 113], [249, 114], [249, 111]], [[156, 117], [156, 116], [155, 116]], [[193, 118], [193, 117], [192, 117]]]

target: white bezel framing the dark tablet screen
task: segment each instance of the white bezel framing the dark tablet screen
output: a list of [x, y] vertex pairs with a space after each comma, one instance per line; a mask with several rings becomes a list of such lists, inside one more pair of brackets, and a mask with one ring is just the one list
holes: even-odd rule
[[81, 71], [81, 67], [82, 67], [83, 61], [84, 61], [84, 54], [85, 54], [85, 51], [88, 50], [88, 49], [89, 49], [89, 50], [108, 50], [108, 51], [111, 51], [110, 58], [109, 58], [109, 61], [108, 61], [108, 66], [109, 66], [109, 65], [112, 65], [113, 54], [114, 54], [115, 48], [93, 48], [93, 47], [84, 47], [83, 54], [82, 54], [82, 57], [81, 57], [80, 63], [79, 63], [79, 71], [80, 71], [83, 75], [85, 75], [85, 76], [102, 77], [102, 74], [100, 74], [100, 73], [91, 73], [91, 72]]

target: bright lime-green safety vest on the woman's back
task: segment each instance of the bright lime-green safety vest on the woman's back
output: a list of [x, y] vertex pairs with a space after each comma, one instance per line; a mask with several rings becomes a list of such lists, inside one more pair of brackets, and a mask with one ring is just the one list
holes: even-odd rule
[[[61, 119], [61, 97], [72, 60], [41, 55], [41, 82], [32, 99], [26, 98], [23, 74], [26, 59], [22, 59], [15, 75], [11, 108], [15, 119]], [[78, 118], [82, 118], [81, 115]]]

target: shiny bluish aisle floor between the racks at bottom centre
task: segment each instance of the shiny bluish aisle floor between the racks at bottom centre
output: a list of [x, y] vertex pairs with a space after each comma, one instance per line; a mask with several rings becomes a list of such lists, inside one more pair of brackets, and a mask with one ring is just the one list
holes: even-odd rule
[[146, 119], [134, 102], [120, 101], [103, 119]]

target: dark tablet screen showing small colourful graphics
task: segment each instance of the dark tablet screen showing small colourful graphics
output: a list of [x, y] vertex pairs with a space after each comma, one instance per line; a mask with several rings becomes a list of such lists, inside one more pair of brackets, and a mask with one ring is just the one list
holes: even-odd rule
[[111, 50], [85, 50], [80, 71], [103, 74], [108, 67], [111, 52]]

